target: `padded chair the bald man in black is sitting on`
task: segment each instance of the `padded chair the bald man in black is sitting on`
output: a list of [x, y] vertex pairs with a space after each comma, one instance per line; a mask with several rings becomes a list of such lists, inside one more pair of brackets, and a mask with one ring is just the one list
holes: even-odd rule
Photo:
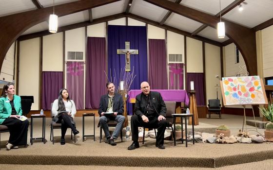
[[[166, 120], [169, 122], [169, 126], [166, 129], [172, 129], [172, 135], [174, 136], [174, 129], [173, 129], [173, 115], [176, 113], [176, 102], [169, 102], [166, 101]], [[145, 127], [143, 131], [143, 140], [142, 144], [144, 144], [144, 138], [145, 138]], [[156, 134], [156, 128], [155, 128], [155, 134]], [[175, 141], [174, 141], [175, 142]]]

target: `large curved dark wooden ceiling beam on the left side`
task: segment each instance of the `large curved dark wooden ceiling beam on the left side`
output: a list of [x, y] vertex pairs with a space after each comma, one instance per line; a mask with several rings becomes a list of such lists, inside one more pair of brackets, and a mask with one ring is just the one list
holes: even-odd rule
[[[95, 8], [119, 0], [78, 0], [55, 6], [55, 14], [59, 17]], [[12, 43], [27, 29], [46, 21], [53, 7], [41, 8], [9, 16], [0, 17], [0, 67]]]

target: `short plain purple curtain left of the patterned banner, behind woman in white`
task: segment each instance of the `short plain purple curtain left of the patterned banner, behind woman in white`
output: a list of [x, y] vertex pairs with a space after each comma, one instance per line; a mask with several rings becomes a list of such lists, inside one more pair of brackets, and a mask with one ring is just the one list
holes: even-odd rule
[[63, 74], [58, 71], [42, 72], [42, 109], [51, 110], [51, 103], [58, 98], [59, 90], [63, 87]]

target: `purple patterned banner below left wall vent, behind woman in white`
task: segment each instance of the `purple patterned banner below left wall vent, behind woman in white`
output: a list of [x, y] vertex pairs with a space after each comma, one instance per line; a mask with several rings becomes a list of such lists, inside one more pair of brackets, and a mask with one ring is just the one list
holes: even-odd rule
[[76, 104], [77, 110], [83, 108], [83, 62], [71, 62], [66, 63], [66, 88], [69, 93], [69, 97]]

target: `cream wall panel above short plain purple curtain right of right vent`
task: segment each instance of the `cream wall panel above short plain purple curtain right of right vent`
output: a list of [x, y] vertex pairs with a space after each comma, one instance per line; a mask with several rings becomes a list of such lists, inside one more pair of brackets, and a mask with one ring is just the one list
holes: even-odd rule
[[189, 38], [187, 43], [187, 72], [203, 72], [202, 41]]

